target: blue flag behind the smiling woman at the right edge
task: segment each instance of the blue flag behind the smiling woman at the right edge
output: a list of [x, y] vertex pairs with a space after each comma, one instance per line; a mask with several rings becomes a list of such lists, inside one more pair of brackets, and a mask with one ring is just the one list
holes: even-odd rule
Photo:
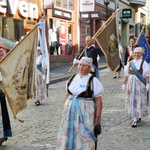
[[146, 37], [144, 35], [144, 32], [141, 33], [141, 35], [138, 38], [137, 42], [139, 47], [142, 47], [144, 50], [143, 59], [149, 63], [150, 62], [150, 46], [148, 41], [146, 40]]

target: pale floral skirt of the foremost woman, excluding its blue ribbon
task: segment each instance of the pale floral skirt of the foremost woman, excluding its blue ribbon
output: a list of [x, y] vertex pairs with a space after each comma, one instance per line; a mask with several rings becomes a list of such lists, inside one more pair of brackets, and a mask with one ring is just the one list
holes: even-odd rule
[[[95, 142], [86, 132], [85, 126], [92, 132], [94, 130], [94, 101], [79, 100], [80, 110], [83, 116], [83, 122], [79, 119], [77, 110], [74, 112], [74, 134], [72, 150], [95, 150]], [[69, 150], [69, 129], [70, 129], [70, 109], [72, 101], [67, 99], [64, 104], [60, 129], [58, 132], [57, 150]]]

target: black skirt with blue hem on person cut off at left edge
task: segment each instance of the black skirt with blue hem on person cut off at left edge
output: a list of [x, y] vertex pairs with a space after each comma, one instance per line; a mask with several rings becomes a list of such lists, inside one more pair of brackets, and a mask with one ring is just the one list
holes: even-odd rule
[[12, 136], [9, 114], [6, 105], [6, 99], [3, 91], [0, 89], [0, 138]]

